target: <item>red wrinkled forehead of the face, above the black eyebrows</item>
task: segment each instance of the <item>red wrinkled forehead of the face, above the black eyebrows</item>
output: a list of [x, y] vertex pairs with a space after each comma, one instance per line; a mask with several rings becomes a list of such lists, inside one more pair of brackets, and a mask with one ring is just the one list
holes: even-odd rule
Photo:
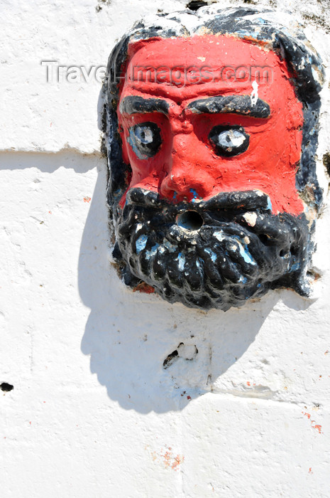
[[[251, 93], [253, 80], [260, 95], [276, 102], [275, 109], [279, 100], [295, 97], [285, 61], [263, 46], [224, 35], [150, 38], [128, 47], [122, 90], [125, 95], [141, 92], [185, 100]], [[278, 85], [285, 88], [284, 95]]]

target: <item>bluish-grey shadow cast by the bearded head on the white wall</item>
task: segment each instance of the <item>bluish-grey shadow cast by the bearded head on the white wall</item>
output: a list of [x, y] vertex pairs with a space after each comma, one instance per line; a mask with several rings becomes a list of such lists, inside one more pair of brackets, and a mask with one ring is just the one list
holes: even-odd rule
[[[205, 313], [126, 288], [109, 263], [106, 164], [101, 167], [82, 236], [79, 292], [91, 308], [82, 352], [109, 397], [141, 413], [181, 410], [212, 391], [247, 351], [280, 293], [243, 309]], [[285, 304], [309, 302], [290, 292]]]

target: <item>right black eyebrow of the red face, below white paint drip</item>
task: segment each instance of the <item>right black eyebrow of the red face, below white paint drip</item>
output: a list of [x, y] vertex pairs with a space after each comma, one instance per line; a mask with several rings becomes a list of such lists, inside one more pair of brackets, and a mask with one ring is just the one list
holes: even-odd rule
[[224, 95], [190, 102], [187, 109], [197, 114], [230, 113], [251, 117], [269, 117], [270, 107], [264, 100], [258, 99], [253, 104], [250, 95]]

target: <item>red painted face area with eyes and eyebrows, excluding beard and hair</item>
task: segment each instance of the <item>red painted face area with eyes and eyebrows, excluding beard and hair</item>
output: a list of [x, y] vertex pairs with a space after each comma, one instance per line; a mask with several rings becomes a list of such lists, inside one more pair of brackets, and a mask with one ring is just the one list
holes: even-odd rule
[[206, 35], [133, 43], [128, 55], [118, 114], [129, 188], [173, 202], [259, 189], [273, 213], [304, 211], [302, 103], [273, 51]]

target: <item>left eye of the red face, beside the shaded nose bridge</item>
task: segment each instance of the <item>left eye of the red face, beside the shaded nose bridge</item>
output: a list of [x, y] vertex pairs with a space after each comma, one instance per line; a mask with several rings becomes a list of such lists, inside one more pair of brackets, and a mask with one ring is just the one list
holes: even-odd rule
[[129, 129], [127, 139], [138, 159], [153, 157], [160, 148], [160, 128], [152, 122], [139, 123]]

